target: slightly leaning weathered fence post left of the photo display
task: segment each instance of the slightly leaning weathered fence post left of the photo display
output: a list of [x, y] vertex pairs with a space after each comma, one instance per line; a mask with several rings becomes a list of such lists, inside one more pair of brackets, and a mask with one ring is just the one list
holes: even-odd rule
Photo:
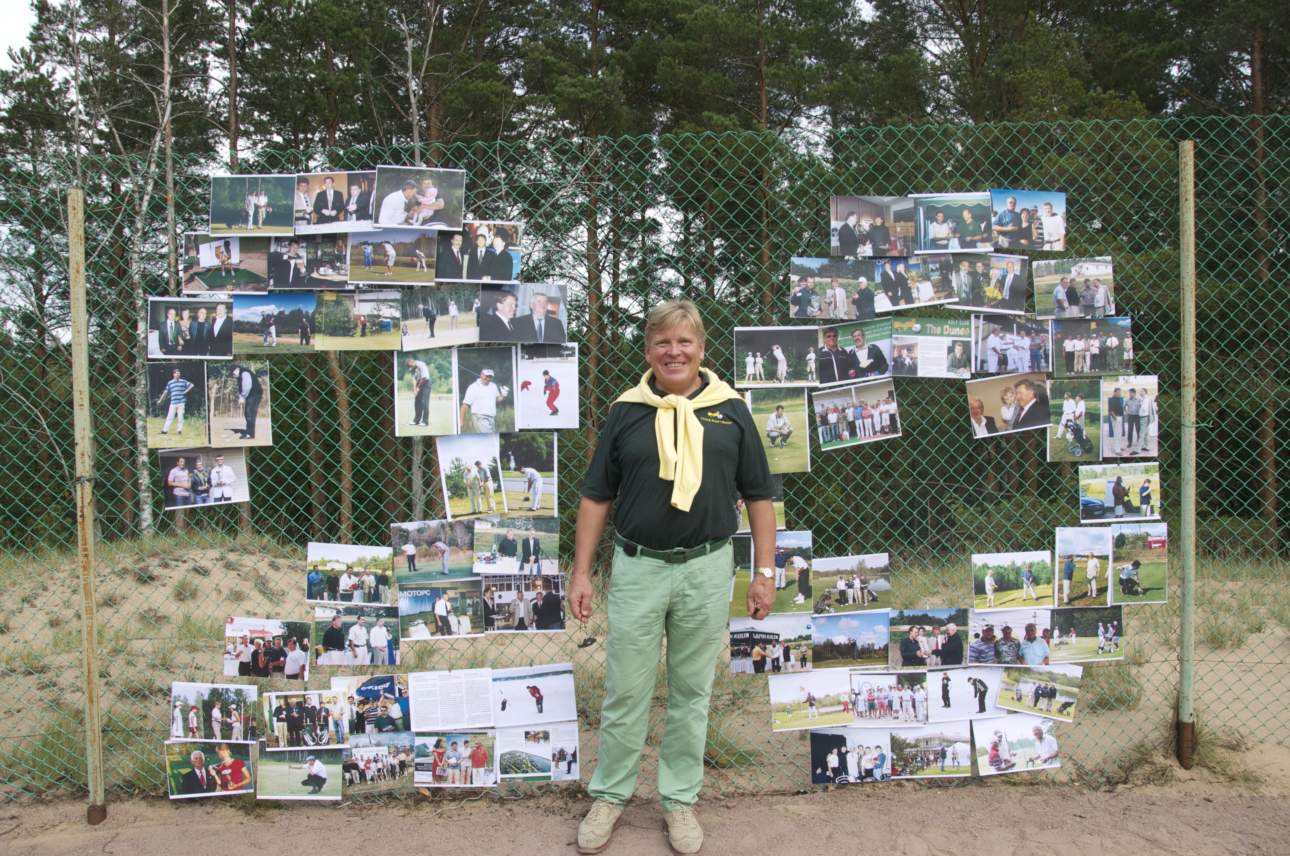
[[85, 298], [85, 191], [67, 191], [67, 276], [72, 316], [72, 429], [76, 447], [76, 558], [81, 575], [81, 650], [85, 663], [85, 820], [107, 820], [103, 798], [103, 732], [99, 723], [99, 672], [94, 615], [94, 425], [89, 391], [89, 307]]

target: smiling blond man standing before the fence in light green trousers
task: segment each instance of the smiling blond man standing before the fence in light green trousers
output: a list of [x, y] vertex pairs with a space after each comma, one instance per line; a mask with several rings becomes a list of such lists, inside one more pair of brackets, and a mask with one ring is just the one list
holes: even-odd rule
[[[600, 758], [587, 788], [595, 803], [578, 828], [579, 853], [609, 847], [636, 788], [664, 633], [663, 826], [673, 852], [699, 852], [694, 803], [734, 575], [731, 485], [744, 499], [755, 554], [774, 556], [774, 483], [761, 428], [742, 396], [700, 367], [704, 343], [693, 303], [668, 300], [649, 312], [649, 369], [613, 404], [582, 487], [569, 607], [583, 624], [592, 616], [591, 569], [615, 501], [617, 511]], [[770, 614], [773, 578], [774, 569], [755, 569], [749, 618]]]

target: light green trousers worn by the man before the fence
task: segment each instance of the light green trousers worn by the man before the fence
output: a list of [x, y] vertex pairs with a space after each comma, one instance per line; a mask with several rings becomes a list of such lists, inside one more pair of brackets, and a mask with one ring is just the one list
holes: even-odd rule
[[624, 804], [636, 790], [667, 632], [667, 725], [659, 748], [663, 808], [693, 804], [703, 784], [712, 679], [725, 641], [734, 549], [667, 565], [614, 549], [605, 638], [600, 759], [588, 792]]

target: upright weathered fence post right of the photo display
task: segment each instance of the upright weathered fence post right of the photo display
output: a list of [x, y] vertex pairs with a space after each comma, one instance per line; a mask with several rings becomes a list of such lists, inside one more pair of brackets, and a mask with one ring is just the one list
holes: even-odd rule
[[1196, 589], [1196, 143], [1178, 144], [1179, 303], [1182, 309], [1182, 517], [1183, 597], [1178, 654], [1178, 762], [1192, 767], [1196, 710], [1192, 699]]

